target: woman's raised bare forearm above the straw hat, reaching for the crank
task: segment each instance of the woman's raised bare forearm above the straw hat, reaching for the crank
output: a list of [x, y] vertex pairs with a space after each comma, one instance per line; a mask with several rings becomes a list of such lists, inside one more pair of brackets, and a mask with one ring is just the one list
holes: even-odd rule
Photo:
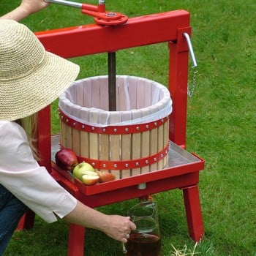
[[11, 12], [8, 12], [6, 15], [1, 16], [0, 19], [20, 21], [32, 13], [48, 7], [48, 5], [49, 4], [43, 0], [22, 0], [20, 6]]

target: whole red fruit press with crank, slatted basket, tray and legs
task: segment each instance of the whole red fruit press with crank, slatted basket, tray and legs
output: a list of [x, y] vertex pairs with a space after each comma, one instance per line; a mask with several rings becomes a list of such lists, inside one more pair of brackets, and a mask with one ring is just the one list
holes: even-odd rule
[[[103, 87], [99, 84], [104, 84], [104, 86], [107, 84], [105, 91], [108, 91], [109, 100], [108, 106], [104, 108], [108, 114], [114, 113], [116, 116], [118, 112], [127, 113], [127, 111], [119, 111], [122, 100], [119, 99], [121, 94], [118, 94], [121, 84], [124, 84], [123, 91], [126, 91], [125, 84], [127, 82], [125, 81], [127, 80], [129, 80], [129, 85], [136, 84], [136, 91], [140, 91], [140, 87], [146, 88], [146, 91], [148, 88], [153, 90], [154, 86], [161, 88], [151, 80], [116, 75], [116, 51], [166, 42], [167, 48], [169, 48], [167, 91], [171, 95], [172, 111], [170, 116], [157, 118], [157, 120], [147, 120], [146, 124], [127, 124], [121, 128], [116, 125], [111, 126], [111, 124], [103, 128], [90, 123], [84, 125], [83, 122], [81, 123], [76, 119], [74, 121], [61, 113], [64, 122], [61, 123], [60, 136], [50, 133], [50, 106], [48, 106], [39, 111], [37, 135], [38, 148], [42, 155], [40, 164], [48, 168], [50, 174], [61, 186], [71, 192], [78, 200], [91, 207], [104, 206], [137, 197], [147, 197], [170, 189], [182, 189], [189, 236], [194, 241], [199, 241], [204, 231], [197, 184], [199, 172], [204, 167], [204, 161], [185, 150], [189, 51], [192, 55], [192, 61], [196, 65], [189, 39], [191, 34], [189, 12], [175, 10], [128, 19], [126, 15], [118, 12], [106, 12], [104, 1], [99, 1], [97, 6], [60, 0], [50, 2], [75, 5], [75, 7], [80, 7], [83, 13], [94, 17], [95, 24], [41, 31], [36, 34], [48, 51], [64, 58], [108, 53], [108, 76], [88, 78], [81, 82], [89, 83], [90, 90]], [[118, 90], [116, 90], [117, 87]], [[152, 94], [154, 91], [151, 91]], [[131, 97], [133, 97], [132, 95]], [[138, 98], [143, 98], [141, 95], [138, 94]], [[98, 101], [100, 99], [95, 102]], [[162, 99], [160, 102], [165, 108], [165, 102], [162, 102]], [[152, 110], [154, 104], [151, 105], [151, 103], [142, 105], [141, 108], [146, 112], [148, 109]], [[92, 105], [92, 107], [94, 106]], [[88, 109], [90, 111], [90, 108]], [[131, 108], [129, 117], [133, 115], [132, 111]], [[158, 113], [155, 116], [158, 116]], [[127, 116], [123, 117], [126, 118]], [[63, 129], [66, 132], [63, 132]], [[116, 132], [119, 133], [116, 134]], [[108, 156], [104, 155], [105, 157], [103, 157], [101, 152], [103, 146], [97, 149], [91, 148], [90, 152], [87, 148], [87, 146], [90, 148], [90, 143], [82, 143], [86, 136], [89, 142], [94, 142], [94, 145], [100, 145], [103, 141], [109, 144], [110, 146], [106, 149]], [[61, 170], [56, 166], [52, 157], [59, 145], [60, 137], [62, 137], [61, 143], [75, 148], [79, 154], [85, 154], [79, 157], [91, 160], [99, 169], [116, 172], [118, 178], [115, 181], [89, 187], [73, 178], [67, 171]], [[112, 148], [111, 144], [113, 145]], [[126, 149], [130, 148], [125, 151], [127, 155], [113, 153], [113, 148], [118, 147], [118, 152], [121, 152], [121, 145], [125, 145]], [[137, 148], [140, 148], [140, 151], [137, 151]], [[89, 151], [88, 155], [84, 153], [86, 150]], [[110, 154], [109, 151], [111, 151]], [[114, 155], [115, 158], [113, 159]], [[30, 212], [20, 221], [19, 228], [31, 227], [33, 222], [33, 213]], [[84, 227], [69, 225], [68, 255], [83, 255], [84, 236]]]

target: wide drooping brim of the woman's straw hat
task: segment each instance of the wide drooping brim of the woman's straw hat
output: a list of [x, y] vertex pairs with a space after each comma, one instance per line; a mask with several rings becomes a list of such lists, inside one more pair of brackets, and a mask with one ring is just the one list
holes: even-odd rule
[[0, 120], [13, 121], [50, 105], [77, 78], [80, 67], [46, 52], [40, 67], [26, 77], [0, 81]]

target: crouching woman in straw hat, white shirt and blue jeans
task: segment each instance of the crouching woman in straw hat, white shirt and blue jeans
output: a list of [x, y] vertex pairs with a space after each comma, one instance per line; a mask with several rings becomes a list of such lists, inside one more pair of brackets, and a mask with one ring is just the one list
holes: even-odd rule
[[129, 217], [102, 214], [72, 197], [39, 167], [28, 140], [27, 121], [33, 123], [78, 72], [76, 64], [48, 53], [26, 26], [0, 19], [0, 255], [26, 207], [46, 222], [58, 216], [124, 243], [135, 229]]

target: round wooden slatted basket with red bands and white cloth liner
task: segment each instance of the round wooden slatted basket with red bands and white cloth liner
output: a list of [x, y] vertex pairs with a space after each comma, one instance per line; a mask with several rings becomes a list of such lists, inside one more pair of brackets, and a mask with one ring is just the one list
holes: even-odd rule
[[116, 178], [167, 164], [170, 93], [161, 84], [116, 76], [116, 111], [108, 111], [108, 76], [78, 80], [59, 97], [61, 145], [79, 162]]

